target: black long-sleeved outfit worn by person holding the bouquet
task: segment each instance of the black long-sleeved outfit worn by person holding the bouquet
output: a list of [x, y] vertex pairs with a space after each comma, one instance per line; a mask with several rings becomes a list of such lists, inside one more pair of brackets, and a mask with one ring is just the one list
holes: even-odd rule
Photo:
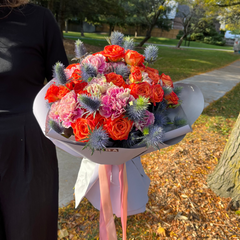
[[32, 114], [33, 100], [68, 60], [58, 25], [45, 8], [0, 8], [0, 239], [56, 240], [55, 147]]

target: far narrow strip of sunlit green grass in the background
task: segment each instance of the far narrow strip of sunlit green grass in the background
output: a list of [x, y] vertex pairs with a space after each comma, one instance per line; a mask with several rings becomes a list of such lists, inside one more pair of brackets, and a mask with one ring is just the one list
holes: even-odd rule
[[[67, 37], [79, 37], [81, 40], [86, 39], [86, 38], [93, 38], [93, 39], [98, 39], [98, 40], [105, 40], [106, 37], [108, 37], [107, 33], [84, 33], [84, 37], [81, 36], [79, 32], [64, 32], [64, 36]], [[132, 36], [133, 37], [133, 36]], [[134, 38], [135, 42], [140, 42], [144, 39], [143, 36], [139, 36]], [[178, 43], [177, 39], [170, 39], [170, 38], [163, 38], [163, 37], [151, 37], [148, 40], [148, 43], [155, 43], [155, 44], [164, 44], [164, 45], [172, 45], [176, 46]], [[185, 42], [182, 43], [182, 46], [184, 46]], [[214, 48], [214, 49], [225, 49], [225, 50], [233, 50], [232, 46], [216, 46], [216, 45], [211, 45], [211, 44], [206, 44], [206, 43], [201, 43], [201, 42], [190, 42], [190, 47], [199, 47], [199, 48]]]

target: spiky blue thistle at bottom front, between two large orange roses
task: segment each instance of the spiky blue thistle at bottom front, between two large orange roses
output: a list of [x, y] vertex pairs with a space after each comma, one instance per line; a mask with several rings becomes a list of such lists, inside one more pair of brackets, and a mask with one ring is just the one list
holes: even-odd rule
[[89, 128], [88, 142], [85, 148], [89, 147], [92, 150], [92, 154], [95, 150], [103, 150], [109, 143], [109, 136], [107, 132], [102, 128], [95, 128], [93, 131]]

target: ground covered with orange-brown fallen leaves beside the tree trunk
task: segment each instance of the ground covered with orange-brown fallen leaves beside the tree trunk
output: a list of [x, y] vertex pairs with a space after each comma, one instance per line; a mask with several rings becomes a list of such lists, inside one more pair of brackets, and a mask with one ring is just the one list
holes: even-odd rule
[[[240, 211], [207, 186], [239, 114], [240, 84], [207, 107], [178, 144], [143, 156], [146, 211], [127, 220], [128, 239], [240, 239]], [[121, 220], [115, 218], [118, 238]], [[58, 239], [99, 239], [99, 211], [85, 198], [59, 209]]]

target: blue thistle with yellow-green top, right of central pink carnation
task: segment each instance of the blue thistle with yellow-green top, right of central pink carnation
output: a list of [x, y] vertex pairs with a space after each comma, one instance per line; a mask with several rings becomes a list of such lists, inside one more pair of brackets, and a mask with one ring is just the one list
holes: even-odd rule
[[144, 118], [148, 105], [148, 99], [140, 95], [138, 99], [127, 105], [126, 116], [134, 122], [140, 121]]

